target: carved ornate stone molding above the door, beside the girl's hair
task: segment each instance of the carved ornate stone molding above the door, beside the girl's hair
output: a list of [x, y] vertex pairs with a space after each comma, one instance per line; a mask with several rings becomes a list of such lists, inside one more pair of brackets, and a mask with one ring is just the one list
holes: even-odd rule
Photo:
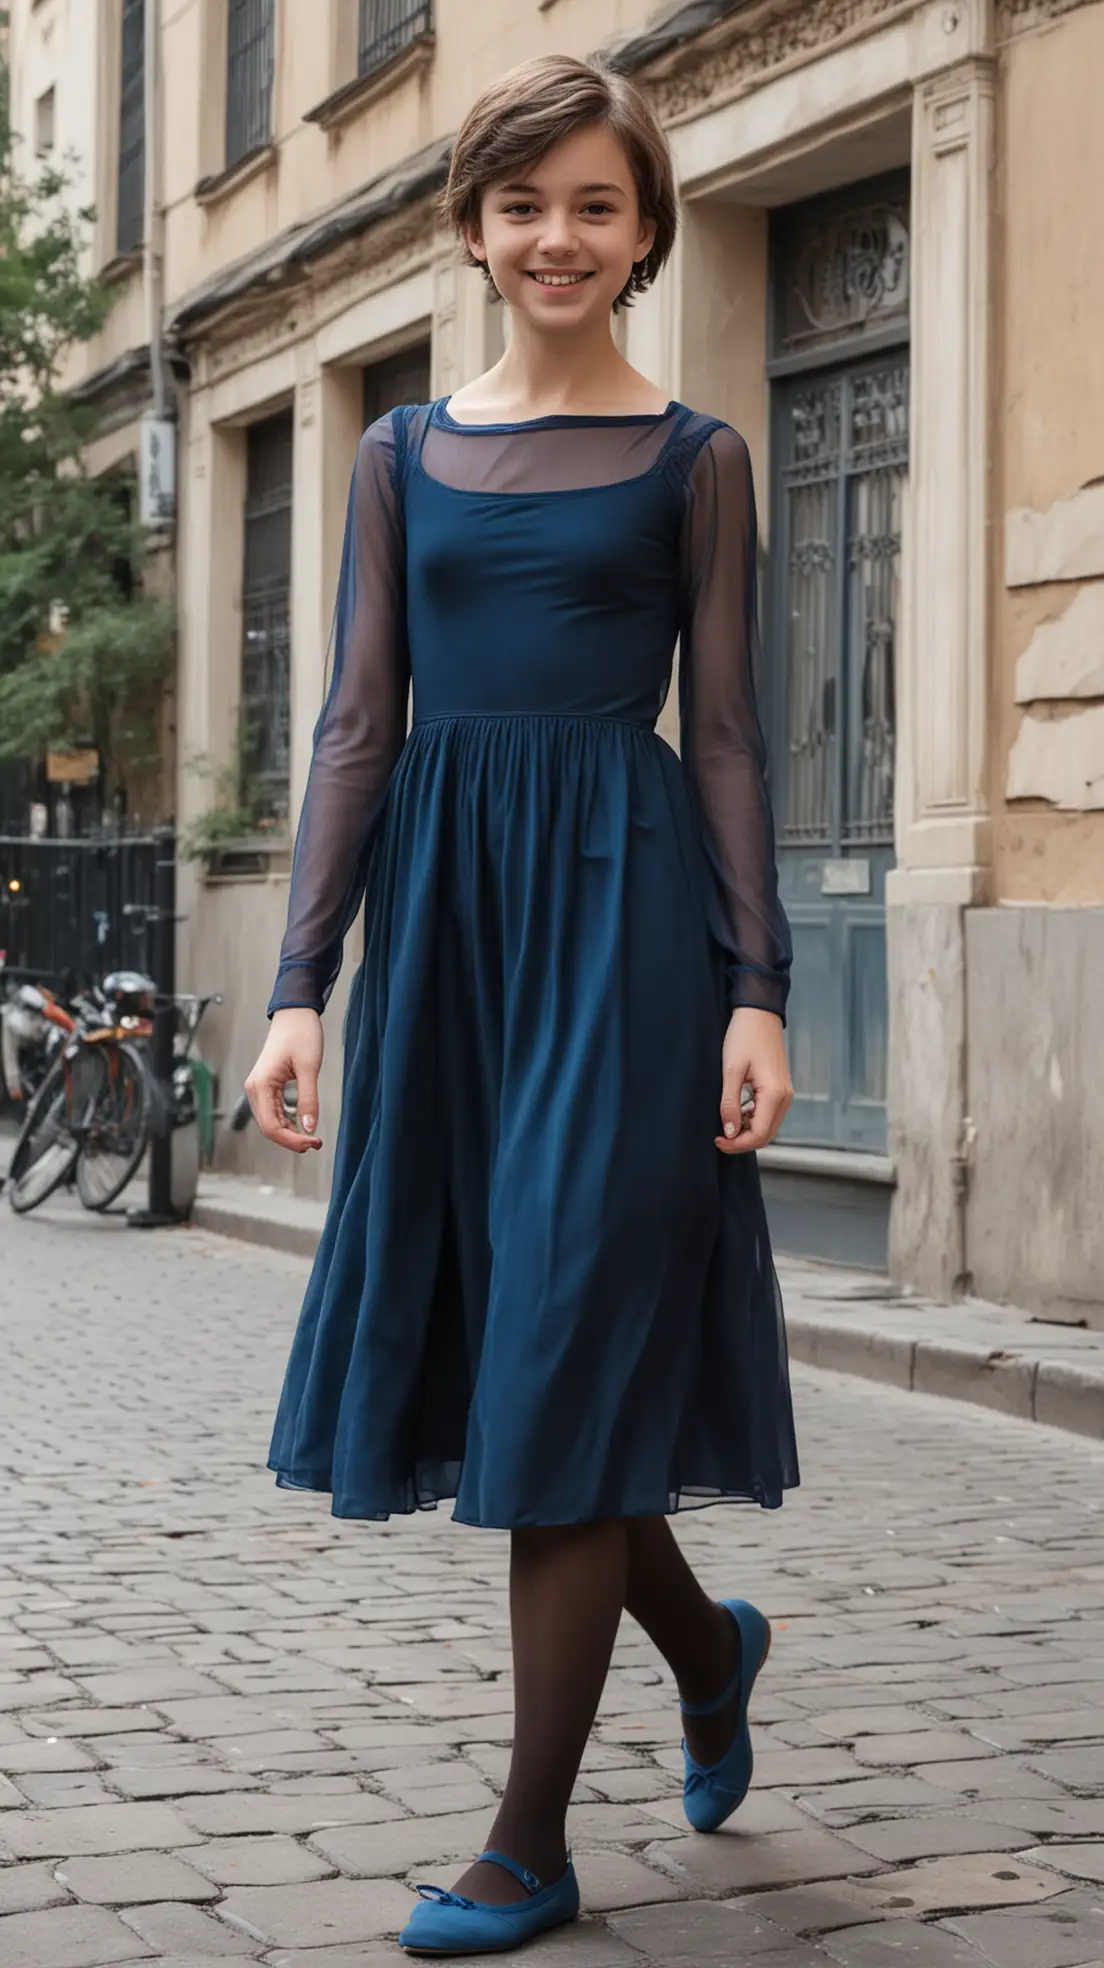
[[683, 122], [917, 6], [919, 0], [764, 0], [644, 69], [636, 81], [649, 91], [663, 122]]

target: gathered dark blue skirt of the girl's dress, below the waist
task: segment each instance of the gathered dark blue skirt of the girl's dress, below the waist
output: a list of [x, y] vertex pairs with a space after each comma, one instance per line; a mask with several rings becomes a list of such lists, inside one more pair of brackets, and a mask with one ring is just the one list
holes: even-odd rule
[[415, 720], [376, 825], [325, 1232], [276, 1417], [340, 1517], [773, 1507], [797, 1484], [683, 768], [586, 714]]

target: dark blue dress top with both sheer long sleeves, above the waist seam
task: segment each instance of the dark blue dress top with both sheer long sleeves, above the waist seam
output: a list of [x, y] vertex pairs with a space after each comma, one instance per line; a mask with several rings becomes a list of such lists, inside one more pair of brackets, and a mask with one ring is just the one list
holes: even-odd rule
[[653, 728], [677, 644], [681, 758], [730, 1002], [783, 1015], [789, 931], [756, 710], [744, 439], [681, 403], [460, 425], [439, 401], [374, 423], [352, 478], [270, 1012], [321, 1010], [333, 988], [407, 695], [415, 724], [539, 714]]

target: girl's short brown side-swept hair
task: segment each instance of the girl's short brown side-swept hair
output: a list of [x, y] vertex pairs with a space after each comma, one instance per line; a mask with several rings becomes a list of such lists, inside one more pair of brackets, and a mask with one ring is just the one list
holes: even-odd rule
[[[531, 169], [555, 144], [586, 124], [604, 124], [622, 142], [636, 179], [640, 215], [655, 226], [651, 252], [634, 266], [614, 301], [614, 309], [632, 307], [632, 295], [651, 285], [671, 254], [679, 199], [671, 148], [655, 110], [644, 91], [614, 69], [575, 61], [571, 55], [539, 55], [484, 89], [453, 146], [441, 209], [466, 246], [466, 232], [480, 224], [484, 191]], [[470, 248], [466, 258], [494, 285], [490, 268]]]

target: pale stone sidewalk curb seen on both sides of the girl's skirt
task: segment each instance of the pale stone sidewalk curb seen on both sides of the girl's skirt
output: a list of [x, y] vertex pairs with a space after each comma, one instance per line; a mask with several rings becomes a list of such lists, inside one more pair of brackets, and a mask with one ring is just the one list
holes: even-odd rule
[[[244, 1177], [205, 1177], [193, 1222], [313, 1258], [325, 1206]], [[1104, 1332], [968, 1299], [899, 1297], [876, 1273], [779, 1258], [789, 1352], [805, 1366], [970, 1401], [1104, 1441]]]

